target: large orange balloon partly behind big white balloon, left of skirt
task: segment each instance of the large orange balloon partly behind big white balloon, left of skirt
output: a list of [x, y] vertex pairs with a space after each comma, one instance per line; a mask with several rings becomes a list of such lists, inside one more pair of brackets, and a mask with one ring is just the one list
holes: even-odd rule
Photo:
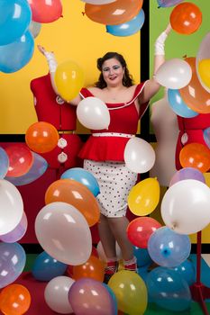
[[45, 193], [45, 203], [67, 202], [80, 211], [92, 227], [99, 220], [100, 211], [93, 193], [73, 179], [59, 179], [50, 184]]

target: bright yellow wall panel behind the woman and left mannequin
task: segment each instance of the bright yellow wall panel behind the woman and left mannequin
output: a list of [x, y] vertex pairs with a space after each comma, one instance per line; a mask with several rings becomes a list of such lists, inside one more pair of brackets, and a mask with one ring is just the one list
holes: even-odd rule
[[[36, 48], [37, 44], [53, 50], [58, 62], [67, 59], [77, 61], [84, 69], [86, 85], [93, 84], [98, 76], [96, 58], [110, 50], [123, 54], [133, 78], [139, 81], [140, 34], [115, 37], [106, 33], [105, 25], [95, 23], [82, 14], [84, 2], [63, 0], [62, 4], [63, 18], [42, 24], [29, 64], [14, 74], [0, 73], [0, 134], [23, 134], [37, 121], [30, 81], [48, 72], [46, 60]], [[81, 128], [78, 131], [84, 133]]]

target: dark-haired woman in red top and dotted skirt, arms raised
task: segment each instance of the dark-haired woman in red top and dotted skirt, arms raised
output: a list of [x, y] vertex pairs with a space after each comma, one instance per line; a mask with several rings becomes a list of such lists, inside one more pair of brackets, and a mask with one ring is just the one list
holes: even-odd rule
[[[154, 76], [150, 80], [133, 85], [123, 56], [108, 52], [103, 58], [97, 59], [100, 76], [96, 85], [82, 88], [78, 97], [70, 101], [72, 105], [78, 105], [83, 98], [95, 96], [104, 101], [110, 111], [108, 130], [92, 130], [92, 136], [79, 153], [79, 157], [84, 159], [84, 167], [96, 176], [100, 185], [101, 193], [97, 197], [101, 209], [98, 229], [107, 257], [105, 282], [117, 271], [116, 241], [122, 251], [124, 268], [131, 271], [137, 269], [133, 247], [126, 235], [129, 221], [125, 217], [127, 196], [136, 183], [137, 175], [125, 166], [123, 150], [127, 141], [135, 135], [138, 121], [148, 102], [160, 88], [155, 81], [155, 73], [165, 61], [164, 42], [170, 30], [169, 25], [156, 40]], [[56, 91], [53, 77], [57, 64], [54, 56], [41, 46], [38, 48], [48, 60], [52, 85]]]

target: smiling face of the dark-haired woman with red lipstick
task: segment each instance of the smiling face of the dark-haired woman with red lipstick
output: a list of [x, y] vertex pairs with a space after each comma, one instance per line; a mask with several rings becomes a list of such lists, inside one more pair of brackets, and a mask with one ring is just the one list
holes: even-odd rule
[[105, 60], [102, 74], [107, 86], [122, 85], [123, 83], [124, 68], [116, 58]]

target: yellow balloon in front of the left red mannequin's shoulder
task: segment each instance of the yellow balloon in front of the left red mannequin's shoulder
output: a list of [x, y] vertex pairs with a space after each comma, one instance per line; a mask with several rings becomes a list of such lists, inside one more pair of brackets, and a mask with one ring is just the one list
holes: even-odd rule
[[64, 61], [58, 65], [54, 79], [59, 95], [66, 101], [78, 96], [84, 85], [83, 70], [72, 60]]

